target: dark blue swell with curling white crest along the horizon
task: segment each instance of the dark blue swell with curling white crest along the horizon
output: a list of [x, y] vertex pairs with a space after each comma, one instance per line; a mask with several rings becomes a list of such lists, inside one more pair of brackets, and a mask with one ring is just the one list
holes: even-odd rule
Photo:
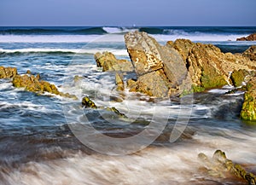
[[256, 32], [254, 26], [60, 26], [60, 27], [0, 27], [0, 35], [104, 35], [108, 33], [125, 33], [133, 31], [148, 32], [149, 34], [163, 35], [194, 35], [194, 34], [242, 34]]

